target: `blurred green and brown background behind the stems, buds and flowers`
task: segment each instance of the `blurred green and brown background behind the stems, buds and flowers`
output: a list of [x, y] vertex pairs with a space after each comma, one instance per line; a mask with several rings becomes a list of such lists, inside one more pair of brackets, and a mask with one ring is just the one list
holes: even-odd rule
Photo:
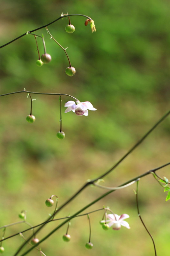
[[[25, 209], [27, 220], [36, 225], [43, 222], [52, 209], [45, 200], [55, 194], [58, 206], [63, 204], [87, 179], [107, 171], [127, 150], [170, 108], [170, 2], [166, 0], [106, 0], [106, 1], [1, 1], [0, 44], [58, 17], [61, 13], [81, 13], [90, 16], [97, 32], [85, 18], [71, 17], [76, 30], [65, 32], [68, 19], [48, 27], [54, 38], [67, 49], [76, 75], [69, 77], [64, 51], [44, 34], [47, 52], [52, 61], [37, 67], [35, 39], [28, 35], [0, 49], [0, 93], [24, 90], [66, 93], [80, 101], [90, 101], [97, 111], [89, 116], [64, 113], [65, 139], [56, 138], [60, 130], [58, 96], [32, 95], [33, 124], [26, 122], [30, 114], [30, 99], [26, 94], [0, 98], [0, 225], [18, 221]], [[41, 54], [41, 39], [38, 38]], [[105, 178], [105, 186], [118, 186], [147, 170], [169, 162], [170, 121], [167, 118], [144, 143]], [[158, 172], [169, 175], [169, 167]], [[99, 221], [103, 213], [91, 215], [91, 251], [85, 249], [89, 228], [87, 217], [71, 221], [70, 243], [62, 240], [66, 226], [42, 245], [47, 255], [154, 255], [150, 237], [138, 216], [133, 188], [117, 191], [88, 211], [109, 206], [116, 214], [127, 213], [130, 230], [104, 231]], [[106, 192], [89, 187], [70, 203], [58, 217], [73, 214]], [[139, 206], [146, 226], [155, 238], [158, 255], [169, 255], [169, 204], [166, 193], [147, 176], [139, 184]], [[46, 226], [38, 235], [41, 239], [59, 222]], [[8, 228], [6, 236], [27, 226]], [[29, 232], [25, 236], [29, 236]], [[21, 244], [15, 237], [3, 243], [5, 255], [13, 255]], [[27, 247], [29, 248], [29, 246]], [[32, 251], [29, 255], [39, 255]]]

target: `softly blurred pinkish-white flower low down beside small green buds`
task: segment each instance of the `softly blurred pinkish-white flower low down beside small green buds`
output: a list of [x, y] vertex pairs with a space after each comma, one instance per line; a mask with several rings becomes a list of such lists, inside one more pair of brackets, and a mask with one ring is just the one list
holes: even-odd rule
[[122, 214], [122, 215], [117, 215], [117, 214], [107, 214], [107, 218], [108, 220], [102, 220], [100, 221], [101, 223], [105, 223], [107, 222], [107, 224], [109, 225], [109, 228], [111, 226], [113, 226], [112, 228], [115, 230], [119, 230], [121, 228], [121, 226], [126, 227], [126, 228], [130, 228], [129, 227], [129, 223], [127, 221], [124, 221], [124, 219], [129, 218], [128, 214]]

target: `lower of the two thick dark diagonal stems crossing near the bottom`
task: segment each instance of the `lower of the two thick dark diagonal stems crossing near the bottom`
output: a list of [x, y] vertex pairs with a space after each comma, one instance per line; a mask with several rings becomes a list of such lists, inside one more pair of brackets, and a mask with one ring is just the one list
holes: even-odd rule
[[[145, 173], [143, 173], [143, 174], [141, 174], [141, 175], [139, 175], [139, 176], [137, 176], [137, 177], [135, 177], [135, 178], [133, 178], [133, 179], [131, 179], [131, 180], [129, 180], [129, 181], [127, 181], [127, 182], [125, 182], [125, 183], [123, 183], [122, 185], [120, 185], [120, 186], [124, 186], [124, 185], [126, 185], [126, 184], [128, 184], [129, 182], [131, 182], [131, 181], [133, 181], [133, 180], [137, 180], [137, 179], [139, 179], [139, 178], [142, 178], [142, 177], [144, 177], [144, 176], [146, 176], [146, 175], [149, 175], [151, 172], [156, 172], [157, 170], [159, 170], [159, 169], [161, 169], [161, 168], [163, 168], [163, 167], [165, 167], [165, 166], [167, 166], [167, 165], [169, 165], [170, 164], [170, 162], [169, 163], [167, 163], [167, 164], [164, 164], [164, 165], [161, 165], [161, 166], [159, 166], [159, 167], [157, 167], [157, 168], [154, 168], [154, 169], [152, 169], [152, 170], [150, 170], [150, 171], [148, 171], [148, 172], [145, 172]], [[87, 182], [87, 183], [89, 183], [89, 182]], [[86, 183], [86, 184], [87, 184]], [[91, 184], [91, 183], [90, 183]], [[87, 204], [85, 207], [83, 207], [82, 209], [80, 209], [78, 212], [76, 212], [75, 214], [73, 214], [72, 216], [70, 216], [70, 218], [68, 218], [67, 220], [65, 220], [65, 221], [63, 221], [61, 224], [59, 224], [55, 229], [53, 229], [50, 233], [48, 233], [44, 238], [42, 238], [38, 243], [37, 243], [37, 245], [38, 244], [41, 244], [43, 241], [45, 241], [49, 236], [51, 236], [55, 231], [57, 231], [59, 228], [61, 228], [65, 223], [67, 223], [68, 221], [70, 221], [71, 219], [73, 219], [75, 216], [77, 216], [79, 213], [81, 213], [81, 212], [83, 212], [85, 209], [87, 209], [88, 207], [90, 207], [91, 205], [93, 205], [93, 204], [95, 204], [96, 202], [98, 202], [100, 199], [102, 199], [102, 198], [104, 198], [105, 196], [107, 196], [107, 195], [109, 195], [110, 193], [112, 193], [112, 192], [114, 192], [114, 191], [116, 191], [116, 190], [109, 190], [108, 192], [106, 192], [105, 194], [103, 194], [103, 195], [101, 195], [100, 197], [98, 197], [97, 199], [95, 199], [94, 201], [92, 201], [90, 204]], [[77, 192], [78, 193], [78, 192]], [[62, 206], [61, 206], [62, 207]], [[59, 208], [59, 210], [61, 209], [61, 207]], [[45, 223], [46, 224], [46, 223]], [[41, 226], [42, 227], [42, 226]], [[38, 230], [39, 231], [39, 230]], [[29, 237], [28, 238], [28, 240], [30, 240], [32, 238], [32, 236], [31, 237]], [[21, 251], [21, 249], [25, 246], [25, 244], [26, 243], [24, 243], [24, 244], [22, 244], [20, 247], [19, 247], [19, 249], [18, 249], [18, 251], [14, 254], [14, 256], [16, 256], [16, 255], [18, 255], [18, 253]], [[32, 251], [33, 250], [33, 248], [30, 248], [30, 249], [28, 249], [26, 252], [24, 252], [23, 254], [21, 254], [20, 256], [24, 256], [24, 255], [26, 255], [28, 252], [30, 252], [30, 251]]]

